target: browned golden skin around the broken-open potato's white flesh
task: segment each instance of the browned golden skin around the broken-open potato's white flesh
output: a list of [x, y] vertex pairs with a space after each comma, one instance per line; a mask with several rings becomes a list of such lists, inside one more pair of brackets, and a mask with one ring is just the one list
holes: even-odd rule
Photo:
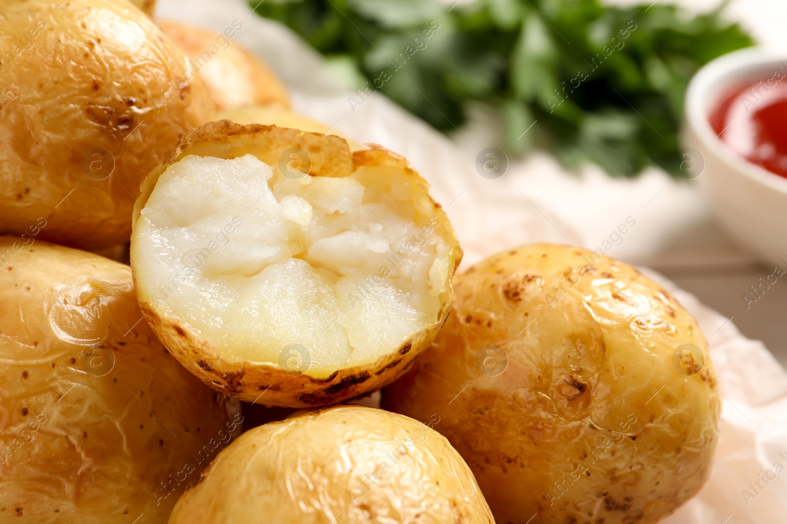
[[[421, 204], [430, 207], [440, 224], [435, 228], [446, 244], [451, 247], [452, 273], [459, 266], [462, 250], [445, 211], [428, 194], [429, 185], [401, 156], [375, 144], [370, 149], [351, 152], [347, 142], [334, 135], [322, 135], [308, 131], [277, 126], [250, 124], [242, 126], [229, 120], [209, 122], [183, 135], [167, 163], [162, 164], [142, 182], [142, 194], [134, 209], [136, 223], [142, 208], [150, 198], [159, 176], [170, 164], [187, 155], [235, 158], [253, 153], [264, 163], [278, 169], [280, 152], [297, 147], [309, 153], [312, 160], [310, 176], [349, 176], [360, 167], [393, 168], [404, 173], [408, 183], [417, 188]], [[414, 189], [415, 190], [415, 189]], [[135, 266], [135, 237], [131, 236], [131, 267]], [[135, 282], [137, 275], [135, 274]], [[178, 318], [161, 317], [154, 305], [153, 294], [157, 290], [146, 290], [138, 286], [139, 309], [150, 323], [153, 331], [164, 346], [188, 370], [210, 387], [230, 394], [243, 401], [259, 401], [268, 406], [282, 408], [313, 408], [330, 405], [349, 398], [371, 393], [393, 382], [401, 376], [415, 358], [430, 346], [442, 324], [448, 318], [453, 302], [453, 290], [439, 297], [441, 310], [438, 321], [412, 338], [393, 348], [368, 365], [351, 368], [309, 369], [300, 376], [293, 376], [276, 365], [250, 362], [223, 354], [216, 347], [201, 339], [198, 332], [183, 324]], [[264, 398], [260, 398], [264, 393]]]

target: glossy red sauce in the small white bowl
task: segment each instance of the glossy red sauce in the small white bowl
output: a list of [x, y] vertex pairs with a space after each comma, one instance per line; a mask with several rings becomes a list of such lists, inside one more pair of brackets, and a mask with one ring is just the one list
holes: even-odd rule
[[733, 151], [787, 178], [787, 75], [774, 71], [733, 90], [709, 119], [718, 139]]

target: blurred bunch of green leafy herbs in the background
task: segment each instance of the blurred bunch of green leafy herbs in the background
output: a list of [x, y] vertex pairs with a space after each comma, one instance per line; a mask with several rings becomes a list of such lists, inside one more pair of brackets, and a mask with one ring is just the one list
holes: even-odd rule
[[461, 126], [467, 103], [480, 101], [504, 115], [508, 148], [547, 148], [567, 167], [591, 161], [626, 176], [651, 164], [680, 173], [689, 79], [753, 43], [721, 7], [689, 16], [600, 0], [467, 3], [268, 0], [257, 13], [440, 130]]

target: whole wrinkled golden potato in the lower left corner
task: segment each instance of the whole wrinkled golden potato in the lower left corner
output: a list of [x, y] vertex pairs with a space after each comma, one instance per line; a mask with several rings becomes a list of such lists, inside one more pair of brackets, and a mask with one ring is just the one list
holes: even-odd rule
[[167, 522], [238, 401], [140, 321], [128, 266], [9, 236], [0, 257], [0, 522]]

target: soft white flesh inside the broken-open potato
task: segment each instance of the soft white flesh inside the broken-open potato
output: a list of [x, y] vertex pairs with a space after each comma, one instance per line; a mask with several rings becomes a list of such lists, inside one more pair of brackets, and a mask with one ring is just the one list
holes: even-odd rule
[[317, 372], [390, 354], [438, 320], [449, 247], [359, 174], [292, 179], [253, 155], [184, 157], [135, 225], [139, 287], [162, 317], [248, 361], [279, 365], [290, 344]]

